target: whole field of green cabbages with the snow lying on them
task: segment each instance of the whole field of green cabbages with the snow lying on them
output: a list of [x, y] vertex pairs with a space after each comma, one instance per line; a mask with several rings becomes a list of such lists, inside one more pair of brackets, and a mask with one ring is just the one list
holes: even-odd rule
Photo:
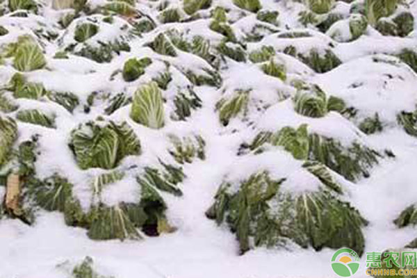
[[[363, 253], [368, 220], [349, 187], [395, 159], [368, 136], [417, 136], [407, 1], [0, 5], [0, 217], [58, 211], [93, 240], [174, 232], [166, 212], [195, 181], [190, 164], [210, 167], [213, 138], [238, 134], [206, 217], [241, 254]], [[74, 277], [101, 277], [91, 263]]]

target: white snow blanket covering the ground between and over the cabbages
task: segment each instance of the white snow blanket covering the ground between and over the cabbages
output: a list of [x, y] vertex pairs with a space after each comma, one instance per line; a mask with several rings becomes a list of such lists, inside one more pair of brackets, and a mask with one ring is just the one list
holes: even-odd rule
[[[215, 69], [204, 58], [186, 51], [176, 49], [176, 57], [152, 51], [145, 43], [152, 42], [158, 33], [171, 28], [184, 31], [189, 38], [203, 35], [213, 44], [220, 42], [223, 37], [208, 28], [211, 19], [208, 19], [207, 10], [202, 13], [202, 19], [162, 24], [158, 18], [157, 6], [160, 2], [163, 1], [136, 2], [136, 9], [152, 17], [157, 26], [149, 33], [131, 37], [129, 28], [133, 27], [129, 22], [131, 19], [126, 16], [115, 16], [113, 24], [108, 24], [102, 21], [104, 16], [99, 13], [89, 16], [82, 13], [70, 26], [61, 28], [57, 22], [64, 12], [52, 9], [49, 1], [41, 3], [42, 8], [38, 15], [0, 17], [0, 26], [9, 30], [7, 35], [0, 36], [0, 45], [16, 42], [19, 35], [30, 34], [38, 38], [38, 43], [44, 49], [47, 65], [43, 69], [24, 73], [28, 81], [43, 83], [47, 90], [72, 92], [79, 97], [81, 104], [74, 113], [45, 99], [15, 99], [19, 110], [40, 109], [54, 114], [56, 125], [56, 129], [49, 129], [18, 122], [15, 147], [33, 134], [40, 134], [40, 155], [35, 163], [37, 177], [43, 179], [55, 172], [65, 175], [74, 184], [74, 195], [84, 209], [88, 209], [93, 202], [90, 180], [104, 170], [81, 170], [67, 147], [71, 131], [79, 124], [103, 117], [115, 122], [126, 121], [131, 126], [140, 138], [142, 154], [124, 158], [117, 166], [120, 169], [128, 169], [131, 165], [156, 165], [158, 158], [174, 164], [174, 159], [167, 152], [170, 146], [168, 135], [172, 133], [177, 136], [199, 134], [206, 143], [204, 160], [195, 159], [193, 163], [181, 165], [186, 174], [186, 179], [179, 185], [183, 196], [174, 197], [161, 193], [167, 203], [167, 219], [176, 228], [173, 233], [156, 237], [145, 236], [143, 240], [98, 241], [88, 238], [86, 230], [81, 227], [67, 226], [64, 215], [60, 212], [37, 211], [35, 222], [31, 226], [4, 216], [0, 220], [0, 278], [70, 277], [72, 267], [85, 256], [92, 257], [94, 268], [101, 275], [115, 278], [335, 277], [330, 263], [335, 251], [333, 249], [325, 247], [316, 251], [312, 247], [303, 249], [293, 244], [287, 247], [256, 247], [239, 255], [236, 234], [231, 233], [226, 224], [218, 226], [205, 215], [213, 204], [224, 177], [245, 179], [252, 172], [265, 167], [279, 177], [288, 173], [288, 179], [294, 181], [294, 188], [290, 188], [294, 192], [316, 190], [313, 183], [317, 183], [317, 179], [312, 180], [305, 176], [306, 171], [302, 172], [300, 166], [302, 163], [282, 148], [260, 156], [237, 155], [240, 145], [250, 142], [259, 131], [277, 131], [284, 126], [296, 128], [304, 123], [308, 124], [310, 133], [336, 138], [342, 145], [349, 145], [357, 140], [373, 149], [389, 149], [395, 154], [395, 158], [381, 158], [378, 165], [369, 169], [370, 177], [358, 181], [347, 181], [332, 172], [343, 185], [343, 198], [368, 220], [368, 225], [362, 229], [365, 238], [364, 252], [401, 249], [417, 237], [414, 227], [399, 229], [393, 223], [404, 208], [417, 201], [417, 138], [408, 135], [397, 121], [397, 115], [401, 111], [411, 112], [416, 109], [417, 74], [409, 65], [393, 56], [405, 48], [417, 50], [417, 20], [414, 24], [415, 31], [406, 38], [383, 36], [375, 28], [368, 26], [357, 40], [336, 42], [329, 35], [320, 33], [315, 26], [309, 24], [304, 27], [297, 21], [297, 14], [304, 9], [301, 3], [291, 0], [261, 1], [264, 9], [279, 10], [279, 26], [269, 24], [276, 31], [264, 35], [258, 42], [247, 42], [245, 51], [249, 54], [263, 45], [272, 46], [277, 53], [275, 58], [286, 68], [287, 79], [281, 80], [263, 74], [259, 65], [249, 60], [242, 63], [225, 58], [219, 62], [220, 68]], [[345, 15], [347, 13], [348, 17], [350, 6], [354, 3], [345, 2], [348, 1], [337, 1], [334, 10]], [[104, 5], [105, 2], [94, 0], [88, 3], [94, 8]], [[230, 8], [227, 14], [229, 19], [239, 18], [239, 12], [242, 12], [232, 1], [217, 0], [211, 5]], [[181, 1], [172, 1], [172, 6], [181, 7]], [[408, 10], [417, 17], [417, 1], [409, 1]], [[204, 17], [204, 13], [208, 15]], [[252, 32], [252, 26], [256, 23], [254, 13], [245, 13], [245, 17], [230, 24], [240, 42], [245, 41], [245, 36]], [[131, 51], [115, 54], [110, 63], [96, 63], [74, 55], [76, 50], [67, 54], [70, 57], [68, 59], [53, 58], [57, 51], [62, 51], [75, 42], [73, 37], [77, 24], [87, 22], [87, 18], [91, 20], [93, 17], [97, 17], [100, 32], [89, 39], [91, 45], [96, 45], [97, 40], [126, 38]], [[122, 27], [124, 25], [128, 27]], [[39, 26], [57, 32], [58, 38], [49, 41], [36, 37], [34, 30]], [[288, 31], [286, 29], [309, 31], [312, 35], [308, 38], [279, 38], [277, 34], [285, 33]], [[314, 47], [324, 51], [329, 44], [333, 45], [332, 51], [342, 64], [324, 73], [317, 73], [299, 59], [282, 53], [288, 45], [296, 46], [297, 51], [305, 54]], [[81, 46], [78, 44], [77, 47]], [[153, 63], [146, 68], [144, 75], [128, 83], [122, 78], [120, 70], [124, 62], [133, 57], [149, 57]], [[385, 61], [375, 62], [377, 59]], [[111, 97], [123, 92], [131, 97], [140, 85], [151, 81], [152, 77], [165, 69], [163, 62], [170, 63], [172, 75], [172, 81], [162, 92], [166, 100], [163, 104], [163, 128], [149, 129], [133, 121], [129, 116], [131, 104], [122, 106], [111, 115], [104, 115], [108, 99], [95, 99], [89, 113], [85, 113], [83, 104], [87, 103], [91, 92], [108, 92]], [[190, 69], [203, 74], [203, 69], [207, 68], [222, 76], [221, 85], [218, 88], [194, 85], [195, 93], [202, 100], [202, 108], [193, 111], [186, 121], [173, 120], [171, 115], [174, 113], [175, 93], [193, 85], [183, 73]], [[2, 88], [6, 88], [15, 72], [13, 59], [4, 58], [3, 65], [0, 65]], [[340, 97], [347, 106], [357, 108], [357, 114], [347, 120], [335, 111], [330, 111], [324, 117], [306, 117], [296, 113], [292, 99], [296, 89], [291, 82], [296, 79], [320, 85], [327, 95]], [[240, 113], [231, 118], [227, 126], [222, 126], [216, 104], [222, 97], [233, 97], [236, 90], [252, 90], [248, 112], [246, 115]], [[12, 95], [9, 91], [5, 94], [8, 97]], [[0, 112], [0, 116], [15, 118], [17, 113], [18, 111]], [[384, 129], [366, 135], [358, 129], [359, 123], [375, 113], [378, 113]], [[297, 173], [296, 171], [300, 171], [300, 174], [294, 174], [293, 178], [291, 174]], [[126, 179], [111, 184], [104, 190], [102, 197], [106, 204], [134, 202], [138, 199], [140, 190], [132, 186], [133, 176], [137, 173], [129, 173]], [[0, 186], [0, 196], [6, 191], [3, 188]], [[364, 253], [361, 257], [361, 268], [354, 277], [367, 277], [365, 270]]]

